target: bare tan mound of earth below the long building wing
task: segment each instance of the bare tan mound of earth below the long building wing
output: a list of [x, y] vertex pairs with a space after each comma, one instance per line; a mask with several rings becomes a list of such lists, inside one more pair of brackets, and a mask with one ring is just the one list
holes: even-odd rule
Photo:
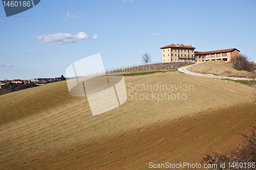
[[225, 61], [207, 61], [200, 63], [190, 68], [190, 71], [196, 71], [207, 74], [214, 74], [218, 76], [236, 76], [236, 77], [249, 77], [248, 71], [239, 71], [231, 68], [231, 63]]

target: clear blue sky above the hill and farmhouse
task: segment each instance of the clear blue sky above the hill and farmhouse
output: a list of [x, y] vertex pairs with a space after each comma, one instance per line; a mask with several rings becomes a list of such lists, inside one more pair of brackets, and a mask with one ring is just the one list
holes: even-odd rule
[[41, 0], [6, 17], [0, 5], [0, 80], [60, 77], [97, 53], [105, 68], [141, 63], [144, 52], [160, 61], [159, 48], [171, 43], [196, 51], [237, 48], [255, 62], [255, 7], [256, 1]]

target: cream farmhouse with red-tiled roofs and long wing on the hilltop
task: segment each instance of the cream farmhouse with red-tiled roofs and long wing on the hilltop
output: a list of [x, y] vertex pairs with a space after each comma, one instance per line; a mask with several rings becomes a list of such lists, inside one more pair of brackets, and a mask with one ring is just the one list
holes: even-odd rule
[[183, 44], [170, 44], [160, 48], [162, 50], [162, 62], [189, 61], [205, 62], [209, 60], [231, 61], [233, 56], [239, 54], [236, 48], [217, 50], [210, 52], [195, 52], [195, 47]]

